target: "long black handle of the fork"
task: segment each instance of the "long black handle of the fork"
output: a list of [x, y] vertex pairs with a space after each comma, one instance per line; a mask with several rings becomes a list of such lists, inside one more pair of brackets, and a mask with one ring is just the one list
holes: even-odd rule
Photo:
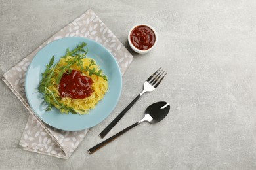
[[106, 134], [108, 134], [108, 132], [117, 124], [117, 122], [119, 122], [123, 115], [125, 115], [125, 113], [134, 105], [134, 103], [136, 103], [140, 96], [144, 94], [144, 92], [146, 91], [143, 90], [135, 99], [133, 99], [133, 101], [127, 107], [125, 107], [125, 109], [123, 109], [123, 111], [120, 112], [118, 116], [116, 116], [116, 118], [112, 120], [112, 122], [98, 136], [104, 138]]

